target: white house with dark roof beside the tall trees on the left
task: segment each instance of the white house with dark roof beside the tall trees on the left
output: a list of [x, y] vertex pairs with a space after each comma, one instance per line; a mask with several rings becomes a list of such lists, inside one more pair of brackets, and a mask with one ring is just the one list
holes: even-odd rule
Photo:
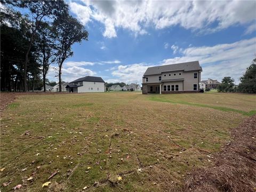
[[104, 92], [105, 82], [101, 77], [86, 76], [70, 82], [66, 89], [75, 93]]

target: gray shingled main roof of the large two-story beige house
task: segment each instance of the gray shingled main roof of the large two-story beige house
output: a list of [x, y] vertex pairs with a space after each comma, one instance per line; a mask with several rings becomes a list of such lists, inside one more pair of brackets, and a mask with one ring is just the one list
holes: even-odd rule
[[146, 70], [144, 75], [161, 74], [163, 72], [177, 71], [177, 70], [184, 70], [184, 71], [202, 70], [202, 67], [199, 65], [198, 61], [191, 61], [191, 62], [185, 62], [185, 63], [149, 67]]

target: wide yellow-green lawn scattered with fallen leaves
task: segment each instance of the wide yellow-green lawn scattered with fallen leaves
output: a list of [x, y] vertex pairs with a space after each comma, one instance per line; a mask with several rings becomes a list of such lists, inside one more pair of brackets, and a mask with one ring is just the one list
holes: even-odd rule
[[179, 189], [211, 165], [230, 130], [255, 114], [255, 101], [229, 93], [22, 95], [1, 114], [1, 191]]

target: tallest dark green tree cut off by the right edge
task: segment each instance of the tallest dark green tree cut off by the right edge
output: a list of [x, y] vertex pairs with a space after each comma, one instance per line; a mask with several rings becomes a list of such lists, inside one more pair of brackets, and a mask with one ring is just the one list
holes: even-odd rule
[[256, 93], [256, 58], [253, 59], [252, 65], [247, 68], [245, 74], [240, 78], [240, 81], [238, 92]]

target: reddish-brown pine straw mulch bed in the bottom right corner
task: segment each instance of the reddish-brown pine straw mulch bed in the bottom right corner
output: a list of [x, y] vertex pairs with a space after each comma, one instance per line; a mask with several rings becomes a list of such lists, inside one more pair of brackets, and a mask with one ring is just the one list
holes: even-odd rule
[[191, 173], [182, 191], [256, 191], [256, 116], [232, 132], [214, 165]]

